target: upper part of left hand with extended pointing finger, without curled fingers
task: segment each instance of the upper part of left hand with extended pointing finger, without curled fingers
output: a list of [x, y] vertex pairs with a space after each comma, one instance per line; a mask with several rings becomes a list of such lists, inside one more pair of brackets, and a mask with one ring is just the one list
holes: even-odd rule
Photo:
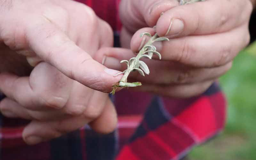
[[45, 61], [102, 92], [110, 92], [120, 79], [113, 76], [117, 71], [92, 59], [98, 48], [113, 45], [113, 33], [88, 6], [71, 0], [5, 0], [0, 4], [0, 56], [21, 54], [32, 66]]

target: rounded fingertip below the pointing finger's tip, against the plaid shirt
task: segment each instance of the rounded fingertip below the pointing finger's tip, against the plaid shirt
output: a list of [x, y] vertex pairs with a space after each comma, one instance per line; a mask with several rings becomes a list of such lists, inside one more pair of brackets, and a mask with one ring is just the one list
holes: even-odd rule
[[110, 99], [107, 100], [102, 114], [90, 123], [95, 132], [110, 133], [116, 129], [117, 114], [116, 109]]

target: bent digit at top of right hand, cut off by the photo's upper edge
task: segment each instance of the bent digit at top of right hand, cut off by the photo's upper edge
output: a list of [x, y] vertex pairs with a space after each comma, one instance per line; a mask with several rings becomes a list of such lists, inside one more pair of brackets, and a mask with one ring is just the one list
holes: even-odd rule
[[134, 33], [140, 28], [155, 26], [162, 12], [178, 5], [177, 0], [123, 0], [120, 4], [120, 19], [124, 27]]

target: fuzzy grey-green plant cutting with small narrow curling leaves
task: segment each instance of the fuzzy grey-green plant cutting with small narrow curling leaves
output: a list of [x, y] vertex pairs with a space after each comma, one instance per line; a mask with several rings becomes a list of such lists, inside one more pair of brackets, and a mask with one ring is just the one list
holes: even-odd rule
[[[195, 3], [198, 1], [205, 1], [205, 0], [178, 0], [178, 1], [180, 2], [180, 5], [185, 5], [185, 4], [191, 4], [191, 3]], [[162, 13], [162, 14], [164, 14], [164, 13]], [[172, 22], [170, 23], [167, 33], [170, 32], [171, 28], [172, 28]], [[117, 75], [120, 75], [120, 74], [124, 74], [124, 75], [118, 83], [112, 85], [113, 90], [111, 93], [113, 95], [115, 94], [116, 89], [118, 87], [122, 87], [122, 88], [123, 87], [137, 87], [137, 86], [142, 85], [140, 82], [133, 82], [133, 83], [127, 82], [127, 78], [131, 72], [137, 71], [140, 73], [141, 76], [145, 76], [145, 74], [147, 74], [147, 75], [149, 74], [149, 68], [148, 68], [147, 64], [141, 60], [142, 58], [152, 59], [153, 55], [156, 54], [159, 57], [159, 59], [161, 60], [161, 53], [156, 51], [156, 46], [154, 46], [153, 43], [157, 42], [157, 41], [169, 41], [169, 39], [166, 37], [159, 37], [157, 34], [152, 36], [148, 32], [140, 34], [141, 38], [143, 36], [148, 36], [150, 39], [144, 46], [143, 46], [144, 41], [141, 42], [141, 46], [143, 46], [143, 47], [140, 47], [141, 49], [140, 49], [139, 53], [137, 54], [137, 56], [131, 58], [129, 61], [128, 60], [121, 61], [121, 63], [125, 63], [127, 65], [127, 69], [124, 70], [123, 72], [117, 74]]]

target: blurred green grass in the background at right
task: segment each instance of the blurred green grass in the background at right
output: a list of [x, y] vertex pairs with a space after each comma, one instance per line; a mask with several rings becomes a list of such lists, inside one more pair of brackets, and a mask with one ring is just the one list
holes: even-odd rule
[[192, 160], [256, 160], [256, 44], [242, 51], [220, 78], [228, 100], [225, 131], [194, 148]]

